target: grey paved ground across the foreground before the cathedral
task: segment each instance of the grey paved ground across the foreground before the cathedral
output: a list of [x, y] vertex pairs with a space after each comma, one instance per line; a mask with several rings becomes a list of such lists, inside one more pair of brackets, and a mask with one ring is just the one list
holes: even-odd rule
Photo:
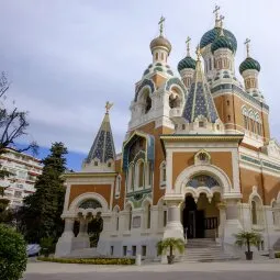
[[24, 280], [276, 280], [280, 260], [136, 266], [30, 262]]

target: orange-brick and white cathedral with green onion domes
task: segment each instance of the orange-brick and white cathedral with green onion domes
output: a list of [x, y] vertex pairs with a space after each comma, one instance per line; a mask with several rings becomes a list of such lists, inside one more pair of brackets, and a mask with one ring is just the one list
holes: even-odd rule
[[65, 175], [57, 257], [153, 259], [167, 237], [234, 248], [242, 229], [260, 233], [262, 250], [280, 246], [280, 146], [270, 136], [249, 40], [239, 80], [237, 40], [217, 8], [194, 58], [188, 37], [177, 75], [164, 22], [132, 94], [122, 153], [115, 154], [108, 102], [81, 171]]

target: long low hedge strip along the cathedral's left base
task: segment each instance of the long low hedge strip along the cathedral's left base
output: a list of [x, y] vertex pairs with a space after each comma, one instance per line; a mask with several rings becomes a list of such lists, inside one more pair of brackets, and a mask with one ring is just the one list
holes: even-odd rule
[[130, 258], [92, 258], [92, 259], [67, 259], [67, 258], [46, 258], [38, 257], [38, 260], [60, 262], [60, 264], [81, 264], [81, 265], [134, 265], [135, 259]]

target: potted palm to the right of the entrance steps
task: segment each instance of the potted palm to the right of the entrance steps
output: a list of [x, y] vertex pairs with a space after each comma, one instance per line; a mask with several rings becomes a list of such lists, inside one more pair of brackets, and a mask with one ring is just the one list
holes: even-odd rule
[[258, 246], [259, 243], [261, 242], [261, 235], [258, 233], [253, 233], [253, 232], [246, 232], [242, 231], [238, 234], [234, 235], [236, 238], [235, 244], [238, 246], [246, 245], [247, 246], [247, 251], [245, 251], [246, 259], [251, 260], [253, 259], [253, 251], [250, 250], [250, 246]]

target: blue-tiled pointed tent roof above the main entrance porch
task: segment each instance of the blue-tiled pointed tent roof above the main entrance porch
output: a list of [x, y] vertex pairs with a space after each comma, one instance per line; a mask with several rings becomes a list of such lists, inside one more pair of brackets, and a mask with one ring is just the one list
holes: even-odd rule
[[211, 123], [215, 123], [219, 119], [211, 91], [202, 71], [201, 60], [198, 58], [182, 116], [188, 123], [192, 123], [200, 115], [206, 117]]

